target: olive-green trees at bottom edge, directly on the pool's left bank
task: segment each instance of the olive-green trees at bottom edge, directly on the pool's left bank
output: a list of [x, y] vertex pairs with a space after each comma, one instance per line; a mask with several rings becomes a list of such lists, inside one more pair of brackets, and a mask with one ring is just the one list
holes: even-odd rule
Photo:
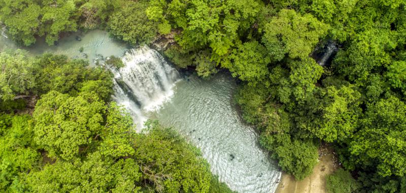
[[158, 192], [208, 192], [212, 178], [209, 164], [199, 151], [171, 128], [146, 123], [145, 136], [138, 136], [134, 149], [144, 178]]

